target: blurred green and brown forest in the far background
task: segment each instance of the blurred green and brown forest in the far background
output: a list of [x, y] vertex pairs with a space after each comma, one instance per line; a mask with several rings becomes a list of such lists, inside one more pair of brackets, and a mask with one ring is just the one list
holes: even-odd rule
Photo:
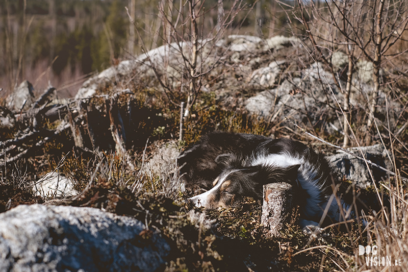
[[[201, 3], [206, 11], [198, 18], [204, 20], [203, 37], [215, 29], [218, 2], [225, 10], [234, 4]], [[224, 34], [291, 35], [284, 10], [288, 3], [294, 2], [243, 1], [236, 23]], [[148, 49], [163, 44], [159, 7], [164, 4], [165, 0], [0, 0], [0, 96], [25, 79], [37, 91], [50, 82], [61, 96], [74, 95], [93, 73], [142, 53], [142, 41]], [[135, 18], [136, 31], [125, 7]], [[177, 8], [172, 14], [176, 19]]]

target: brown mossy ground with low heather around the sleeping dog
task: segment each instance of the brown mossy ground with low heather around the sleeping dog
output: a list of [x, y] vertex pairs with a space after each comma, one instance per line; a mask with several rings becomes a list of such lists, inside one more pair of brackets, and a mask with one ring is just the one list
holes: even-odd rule
[[[92, 150], [91, 141], [88, 141], [87, 149], [80, 149], [74, 147], [72, 136], [64, 133], [39, 147], [34, 157], [23, 157], [16, 164], [1, 166], [0, 212], [18, 204], [50, 201], [35, 196], [31, 184], [58, 168], [60, 174], [74, 182], [75, 189], [87, 189], [79, 196], [52, 200], [55, 204], [94, 207], [138, 218], [148, 228], [141, 236], [148, 239], [150, 231], [159, 231], [171, 243], [171, 256], [162, 267], [165, 271], [354, 269], [356, 244], [367, 243], [367, 234], [362, 232], [361, 225], [350, 224], [345, 231], [329, 228], [324, 237], [310, 239], [297, 224], [298, 209], [295, 207], [281, 237], [272, 238], [261, 225], [262, 204], [259, 201], [245, 198], [240, 205], [228, 209], [203, 211], [184, 205], [183, 199], [189, 196], [185, 193], [179, 192], [174, 199], [164, 197], [161, 177], [141, 177], [138, 171], [144, 151], [148, 158], [154, 150], [151, 145], [154, 141], [178, 138], [180, 109], [155, 90], [134, 89], [133, 92], [133, 95], [121, 95], [117, 105], [123, 123], [127, 124], [126, 147], [138, 169], [131, 170], [123, 158], [115, 155], [112, 141], [100, 141], [97, 150]], [[96, 122], [95, 134], [109, 138], [106, 104], [98, 99], [92, 98], [89, 102], [94, 110], [88, 113], [88, 121]], [[181, 147], [191, 145], [200, 135], [214, 130], [305, 139], [304, 135], [285, 129], [282, 122], [269, 123], [224, 107], [213, 93], [199, 98], [183, 125]], [[47, 126], [52, 128], [53, 123]], [[4, 131], [1, 139], [11, 139], [16, 133]], [[85, 130], [84, 133], [87, 135]], [[330, 135], [319, 136], [331, 141]], [[136, 182], [142, 184], [137, 193], [131, 189]], [[212, 227], [206, 228], [209, 220], [213, 220]]]

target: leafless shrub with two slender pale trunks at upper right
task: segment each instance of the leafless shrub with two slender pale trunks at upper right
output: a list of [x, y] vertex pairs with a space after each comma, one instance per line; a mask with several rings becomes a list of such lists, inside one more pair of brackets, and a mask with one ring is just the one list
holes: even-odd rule
[[[339, 105], [344, 115], [343, 146], [350, 144], [350, 128], [354, 121], [351, 119], [351, 91], [356, 90], [360, 93], [367, 105], [364, 118], [366, 125], [362, 126], [362, 123], [355, 125], [365, 128], [361, 137], [365, 138], [366, 145], [371, 144], [374, 117], [378, 108], [384, 109], [385, 106], [378, 104], [379, 97], [384, 93], [386, 95], [392, 93], [387, 87], [395, 82], [395, 77], [391, 75], [395, 72], [400, 73], [399, 69], [395, 69], [395, 61], [407, 52], [395, 50], [396, 44], [403, 40], [403, 33], [407, 30], [406, 5], [402, 1], [386, 2], [329, 1], [317, 7], [314, 2], [305, 4], [297, 1], [298, 8], [293, 11], [304, 28], [304, 36], [309, 40], [305, 46], [310, 44], [309, 52], [315, 60], [321, 61], [331, 71], [337, 87], [343, 94], [342, 106]], [[336, 65], [335, 54], [338, 52], [347, 56], [347, 65], [343, 67]], [[361, 60], [372, 63], [370, 70], [372, 87], [361, 88], [356, 84], [355, 78], [359, 75], [354, 75], [354, 72]], [[389, 71], [389, 74], [384, 75], [385, 71]], [[346, 82], [345, 85], [343, 81]]]

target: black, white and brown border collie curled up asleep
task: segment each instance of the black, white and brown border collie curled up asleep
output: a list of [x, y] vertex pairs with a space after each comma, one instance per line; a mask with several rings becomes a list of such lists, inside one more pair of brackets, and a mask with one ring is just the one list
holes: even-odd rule
[[294, 188], [302, 227], [318, 226], [327, 205], [327, 215], [340, 221], [327, 161], [300, 142], [213, 132], [184, 151], [179, 165], [187, 189], [208, 190], [189, 199], [196, 207], [228, 207], [242, 196], [262, 199], [264, 184], [286, 182]]

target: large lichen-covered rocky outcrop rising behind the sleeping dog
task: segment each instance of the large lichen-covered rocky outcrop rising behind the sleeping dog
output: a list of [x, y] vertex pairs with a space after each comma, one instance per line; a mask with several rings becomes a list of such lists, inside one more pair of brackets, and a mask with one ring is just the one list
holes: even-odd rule
[[[218, 41], [201, 40], [199, 46], [197, 67], [202, 65], [200, 69], [206, 71], [201, 90], [213, 91], [223, 105], [267, 120], [282, 120], [287, 116], [329, 134], [342, 133], [343, 117], [337, 104], [338, 101], [343, 105], [342, 90], [335, 84], [333, 73], [325, 70], [325, 65], [310, 60], [298, 38], [230, 35]], [[187, 87], [180, 87], [183, 82], [186, 84], [182, 74], [189, 72], [183, 56], [190, 55], [189, 42], [160, 46], [90, 78], [77, 98], [98, 93], [107, 84], [129, 80], [139, 80], [146, 88], [161, 90], [158, 76], [168, 84], [167, 91], [186, 91]], [[340, 85], [346, 86], [347, 56], [335, 52], [331, 60]], [[351, 107], [366, 107], [367, 95], [372, 91], [372, 63], [360, 61], [355, 68]], [[384, 114], [385, 94], [382, 92], [379, 105], [377, 111]], [[389, 109], [390, 116], [400, 112], [397, 103], [390, 104]]]

